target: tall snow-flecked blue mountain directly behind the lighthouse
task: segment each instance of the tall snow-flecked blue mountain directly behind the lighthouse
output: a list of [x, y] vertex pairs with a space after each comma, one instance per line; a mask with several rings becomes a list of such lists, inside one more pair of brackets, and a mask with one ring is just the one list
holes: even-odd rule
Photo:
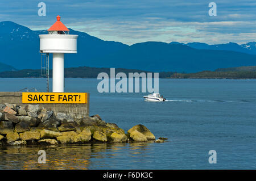
[[[69, 30], [71, 34], [79, 35], [77, 40], [78, 53], [65, 54], [65, 67], [89, 65], [88, 60], [94, 57], [129, 47], [115, 41], [104, 41], [87, 33], [74, 31], [71, 28]], [[1, 56], [8, 59], [16, 69], [40, 69], [41, 56], [38, 35], [46, 33], [46, 30], [32, 31], [14, 22], [1, 22]]]

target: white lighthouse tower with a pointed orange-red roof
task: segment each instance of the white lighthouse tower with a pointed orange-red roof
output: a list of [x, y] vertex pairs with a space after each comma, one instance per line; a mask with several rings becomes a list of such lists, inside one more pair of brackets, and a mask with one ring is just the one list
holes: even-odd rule
[[52, 91], [64, 92], [64, 53], [77, 53], [78, 35], [69, 35], [69, 30], [60, 21], [48, 29], [48, 35], [39, 35], [40, 52], [52, 53]]

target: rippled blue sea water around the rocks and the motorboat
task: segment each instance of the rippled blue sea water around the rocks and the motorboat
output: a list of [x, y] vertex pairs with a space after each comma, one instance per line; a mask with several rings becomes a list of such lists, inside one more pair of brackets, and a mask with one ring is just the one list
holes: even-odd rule
[[[90, 92], [90, 115], [126, 132], [143, 124], [170, 141], [0, 147], [0, 169], [256, 169], [255, 79], [160, 79], [166, 102], [146, 102], [145, 93], [100, 94], [98, 82], [65, 79], [65, 91]], [[0, 85], [46, 91], [45, 79], [2, 78]], [[37, 162], [40, 149], [46, 164]], [[209, 150], [217, 151], [216, 164]]]

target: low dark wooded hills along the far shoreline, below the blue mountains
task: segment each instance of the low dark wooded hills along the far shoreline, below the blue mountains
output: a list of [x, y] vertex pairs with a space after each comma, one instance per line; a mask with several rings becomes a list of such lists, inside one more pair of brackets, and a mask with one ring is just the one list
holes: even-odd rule
[[[109, 68], [90, 68], [81, 66], [79, 68], [65, 68], [65, 78], [97, 78], [98, 74], [105, 72], [110, 76]], [[137, 69], [115, 69], [115, 74], [123, 72], [129, 77], [128, 73], [149, 73], [150, 71]], [[154, 73], [152, 73], [154, 77]], [[40, 69], [23, 69], [16, 71], [0, 72], [0, 78], [41, 78]], [[49, 71], [52, 77], [52, 70]], [[216, 69], [215, 71], [199, 71], [197, 73], [176, 73], [163, 71], [159, 73], [159, 78], [256, 78], [256, 66], [242, 66], [238, 68]]]

